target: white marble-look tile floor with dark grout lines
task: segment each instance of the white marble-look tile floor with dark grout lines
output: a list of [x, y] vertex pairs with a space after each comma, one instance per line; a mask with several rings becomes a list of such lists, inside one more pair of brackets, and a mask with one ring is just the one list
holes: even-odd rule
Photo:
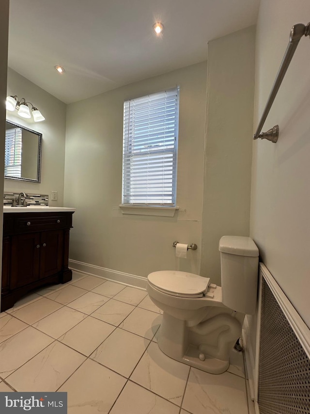
[[0, 314], [0, 392], [65, 391], [69, 414], [250, 414], [243, 353], [212, 375], [158, 348], [145, 290], [73, 271]]

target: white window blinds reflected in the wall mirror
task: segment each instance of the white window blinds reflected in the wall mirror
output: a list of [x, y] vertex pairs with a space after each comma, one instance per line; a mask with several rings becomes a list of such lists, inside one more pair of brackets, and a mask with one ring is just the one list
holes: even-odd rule
[[21, 177], [21, 128], [12, 128], [5, 131], [4, 175]]

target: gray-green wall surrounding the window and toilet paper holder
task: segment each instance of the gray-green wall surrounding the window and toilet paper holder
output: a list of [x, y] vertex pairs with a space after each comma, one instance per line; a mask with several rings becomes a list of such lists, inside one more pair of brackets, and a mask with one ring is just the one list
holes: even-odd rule
[[[180, 85], [174, 217], [123, 215], [124, 100]], [[199, 272], [199, 250], [175, 258], [174, 240], [200, 246], [206, 62], [72, 103], [67, 108], [65, 204], [77, 208], [70, 259], [146, 277], [162, 269]]]

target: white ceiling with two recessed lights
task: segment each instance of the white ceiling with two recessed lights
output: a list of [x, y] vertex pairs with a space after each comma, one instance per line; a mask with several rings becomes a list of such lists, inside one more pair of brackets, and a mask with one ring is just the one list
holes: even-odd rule
[[[259, 0], [10, 0], [9, 66], [75, 102], [204, 61], [208, 41], [255, 24], [258, 6]], [[164, 25], [160, 37], [156, 20]]]

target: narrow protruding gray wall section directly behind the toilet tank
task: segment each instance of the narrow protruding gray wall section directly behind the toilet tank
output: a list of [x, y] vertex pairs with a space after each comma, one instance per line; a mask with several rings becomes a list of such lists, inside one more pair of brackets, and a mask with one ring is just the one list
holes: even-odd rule
[[255, 27], [209, 42], [203, 276], [221, 284], [218, 241], [249, 235]]

